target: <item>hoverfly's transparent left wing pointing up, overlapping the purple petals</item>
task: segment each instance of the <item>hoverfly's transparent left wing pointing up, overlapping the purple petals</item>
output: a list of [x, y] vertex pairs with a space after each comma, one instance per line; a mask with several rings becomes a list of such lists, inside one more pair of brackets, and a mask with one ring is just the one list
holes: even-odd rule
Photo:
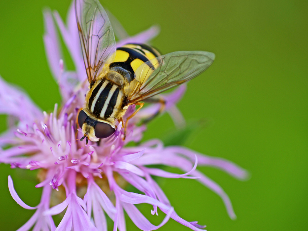
[[98, 0], [75, 0], [77, 27], [88, 81], [100, 73], [103, 64], [115, 57], [115, 36]]

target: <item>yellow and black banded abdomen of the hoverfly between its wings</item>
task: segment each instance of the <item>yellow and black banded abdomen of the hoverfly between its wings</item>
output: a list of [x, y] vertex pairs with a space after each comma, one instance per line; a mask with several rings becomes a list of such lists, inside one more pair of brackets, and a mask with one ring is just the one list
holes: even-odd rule
[[[157, 56], [160, 56], [160, 53], [146, 44], [126, 44], [117, 48], [115, 59], [109, 65], [109, 69], [120, 73], [130, 83], [134, 80], [137, 68]], [[152, 63], [148, 65], [153, 70], [155, 69]]]

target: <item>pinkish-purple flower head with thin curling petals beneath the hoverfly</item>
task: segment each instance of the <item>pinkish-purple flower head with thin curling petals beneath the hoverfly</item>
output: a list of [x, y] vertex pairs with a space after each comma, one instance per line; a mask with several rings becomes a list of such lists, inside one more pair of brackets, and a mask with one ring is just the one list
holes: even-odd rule
[[[126, 230], [124, 211], [141, 230], [154, 230], [164, 225], [169, 218], [193, 229], [203, 230], [205, 226], [188, 222], [179, 217], [167, 196], [153, 179], [165, 178], [196, 179], [216, 192], [224, 201], [229, 216], [235, 218], [229, 197], [219, 185], [199, 172], [197, 165], [213, 166], [239, 179], [245, 178], [242, 168], [227, 160], [204, 156], [187, 148], [164, 147], [160, 140], [150, 140], [136, 146], [127, 146], [131, 141], [140, 142], [146, 127], [142, 122], [156, 115], [158, 104], [141, 109], [129, 123], [124, 136], [121, 123], [115, 133], [100, 142], [80, 142], [81, 130], [77, 129], [77, 111], [83, 106], [87, 92], [86, 72], [76, 26], [74, 5], [68, 12], [65, 24], [57, 12], [44, 12], [46, 33], [45, 49], [51, 71], [59, 84], [63, 104], [55, 105], [53, 112], [42, 112], [25, 93], [0, 79], [0, 112], [10, 115], [14, 123], [0, 137], [0, 162], [12, 168], [39, 169], [39, 184], [43, 193], [39, 205], [30, 207], [18, 197], [13, 180], [8, 177], [9, 190], [14, 200], [25, 209], [35, 209], [34, 215], [18, 230], [107, 230], [106, 216], [114, 222], [113, 230]], [[111, 16], [111, 18], [113, 18]], [[56, 25], [54, 23], [54, 19]], [[115, 19], [114, 19], [115, 20]], [[62, 59], [56, 26], [75, 63], [76, 70], [68, 71]], [[156, 36], [157, 27], [133, 37], [127, 37], [119, 22], [114, 22], [114, 31], [122, 40], [145, 43]], [[182, 123], [175, 103], [181, 98], [185, 86], [165, 94], [165, 110], [176, 123]], [[127, 119], [135, 111], [128, 108]], [[151, 165], [165, 165], [179, 168], [184, 173], [166, 172]], [[140, 193], [128, 192], [125, 186], [131, 184]], [[64, 199], [62, 199], [64, 198]], [[160, 225], [151, 224], [137, 209], [136, 204], [152, 205], [152, 215], [160, 209], [165, 213]], [[52, 205], [52, 206], [51, 206]], [[65, 210], [66, 209], [66, 210]], [[63, 212], [65, 210], [65, 212]], [[64, 213], [56, 227], [52, 216]]]

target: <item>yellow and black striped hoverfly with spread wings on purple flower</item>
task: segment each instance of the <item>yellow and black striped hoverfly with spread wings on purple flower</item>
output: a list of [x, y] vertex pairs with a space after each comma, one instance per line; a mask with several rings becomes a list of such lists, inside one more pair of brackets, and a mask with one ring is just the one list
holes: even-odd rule
[[206, 51], [160, 55], [145, 44], [116, 48], [111, 23], [98, 0], [75, 0], [75, 13], [90, 88], [77, 115], [80, 140], [86, 138], [86, 143], [111, 136], [115, 119], [121, 120], [130, 105], [140, 107], [128, 119], [143, 106], [140, 101], [193, 79], [215, 58]]

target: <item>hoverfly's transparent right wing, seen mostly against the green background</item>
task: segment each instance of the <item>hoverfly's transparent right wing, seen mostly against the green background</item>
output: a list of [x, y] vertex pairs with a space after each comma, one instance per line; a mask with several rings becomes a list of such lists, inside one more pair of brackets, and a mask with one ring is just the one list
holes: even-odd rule
[[140, 65], [135, 79], [124, 88], [130, 104], [185, 83], [205, 71], [215, 54], [207, 51], [176, 51]]

